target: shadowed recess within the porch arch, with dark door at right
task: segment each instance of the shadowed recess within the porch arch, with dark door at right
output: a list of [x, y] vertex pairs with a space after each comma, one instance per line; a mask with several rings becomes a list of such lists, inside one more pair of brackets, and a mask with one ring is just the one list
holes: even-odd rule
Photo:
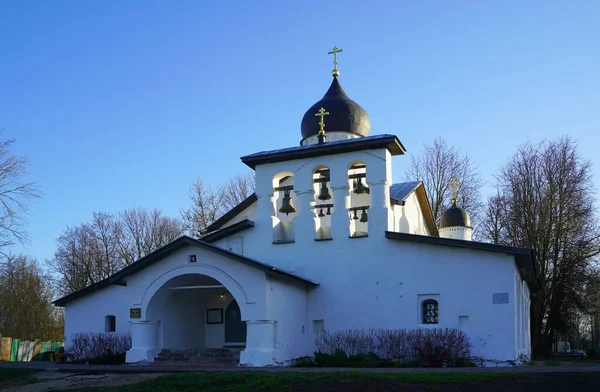
[[[237, 310], [228, 313], [230, 308]], [[158, 323], [158, 350], [246, 343], [246, 323], [233, 294], [218, 280], [202, 274], [183, 274], [166, 281], [148, 302], [146, 319]]]

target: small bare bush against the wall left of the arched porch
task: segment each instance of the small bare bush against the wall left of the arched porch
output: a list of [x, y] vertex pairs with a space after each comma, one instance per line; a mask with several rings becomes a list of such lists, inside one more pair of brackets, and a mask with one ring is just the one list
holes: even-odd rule
[[125, 353], [131, 348], [131, 334], [75, 333], [66, 350], [71, 362], [115, 364], [125, 362]]

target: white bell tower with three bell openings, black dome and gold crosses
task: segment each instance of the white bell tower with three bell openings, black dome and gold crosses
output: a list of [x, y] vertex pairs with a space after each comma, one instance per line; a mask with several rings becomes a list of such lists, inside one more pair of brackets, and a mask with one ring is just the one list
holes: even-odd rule
[[301, 121], [300, 146], [242, 157], [256, 171], [255, 225], [274, 244], [314, 244], [384, 237], [393, 230], [389, 187], [392, 156], [404, 153], [394, 135], [371, 136], [367, 112], [333, 79]]

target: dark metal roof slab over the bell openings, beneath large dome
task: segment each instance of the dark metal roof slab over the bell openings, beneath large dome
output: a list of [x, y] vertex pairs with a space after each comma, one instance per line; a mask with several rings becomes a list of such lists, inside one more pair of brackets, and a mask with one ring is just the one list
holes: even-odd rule
[[250, 168], [265, 163], [283, 162], [293, 159], [313, 158], [316, 156], [342, 154], [345, 152], [374, 150], [387, 148], [392, 155], [402, 155], [406, 149], [395, 135], [375, 135], [356, 139], [336, 140], [323, 144], [310, 144], [282, 148], [272, 151], [261, 151], [241, 157], [240, 159]]

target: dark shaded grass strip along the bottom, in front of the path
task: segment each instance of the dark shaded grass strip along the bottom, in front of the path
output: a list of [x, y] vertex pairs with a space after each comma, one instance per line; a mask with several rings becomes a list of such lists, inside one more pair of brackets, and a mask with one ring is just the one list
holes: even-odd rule
[[68, 392], [588, 392], [596, 390], [598, 385], [600, 385], [600, 372], [542, 374], [203, 372], [173, 374], [121, 387], [70, 389]]

